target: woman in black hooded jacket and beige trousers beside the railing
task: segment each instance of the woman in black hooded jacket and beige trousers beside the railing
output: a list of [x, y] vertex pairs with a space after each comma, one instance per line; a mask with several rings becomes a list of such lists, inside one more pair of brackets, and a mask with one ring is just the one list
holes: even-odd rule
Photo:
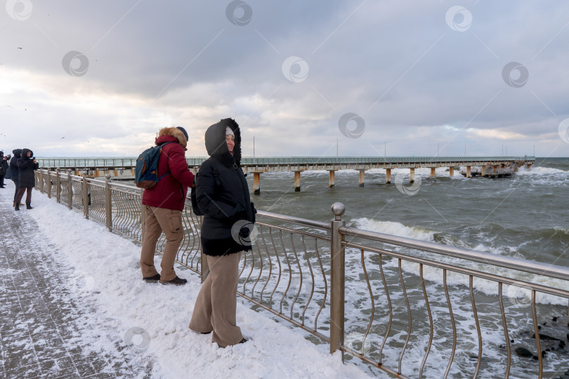
[[256, 211], [240, 166], [237, 122], [223, 119], [211, 125], [205, 145], [210, 157], [197, 173], [195, 194], [204, 214], [201, 239], [209, 275], [197, 295], [190, 329], [213, 332], [211, 342], [226, 347], [247, 342], [236, 321], [237, 281], [242, 252], [251, 250], [248, 238]]

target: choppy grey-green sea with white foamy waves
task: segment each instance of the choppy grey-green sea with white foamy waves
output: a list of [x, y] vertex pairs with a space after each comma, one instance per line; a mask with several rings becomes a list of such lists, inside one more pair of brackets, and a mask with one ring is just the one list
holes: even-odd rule
[[[386, 184], [386, 171], [372, 169], [365, 172], [365, 185], [358, 185], [358, 171], [336, 171], [334, 187], [328, 186], [328, 171], [304, 171], [301, 173], [301, 190], [294, 190], [294, 173], [262, 173], [260, 194], [253, 194], [253, 175], [247, 175], [251, 200], [257, 209], [309, 220], [329, 222], [334, 218], [331, 206], [341, 202], [346, 207], [342, 220], [346, 225], [372, 232], [393, 234], [400, 237], [431, 241], [449, 246], [473, 249], [496, 255], [523, 258], [549, 265], [569, 267], [569, 158], [536, 158], [531, 168], [519, 168], [504, 178], [465, 178], [459, 170], [450, 176], [448, 168], [437, 168], [430, 176], [429, 168], [415, 169], [415, 181], [409, 183], [408, 169], [394, 169], [391, 184]], [[410, 253], [405, 248], [391, 246], [392, 251]], [[410, 253], [413, 254], [413, 253]], [[421, 255], [422, 256], [422, 255]], [[433, 255], [424, 255], [433, 258]], [[453, 264], [452, 258], [435, 258]], [[346, 251], [346, 339], [355, 350], [369, 351], [377, 355], [387, 319], [376, 319], [365, 340], [369, 314], [387, 307], [383, 284], [377, 270], [376, 258], [365, 258], [369, 270], [370, 286], [374, 291], [374, 305], [369, 299], [369, 288], [362, 277], [360, 251]], [[374, 270], [373, 267], [376, 267]], [[497, 275], [511, 275], [511, 270], [500, 267], [471, 265], [475, 270]], [[384, 270], [398, 274], [398, 261], [386, 260]], [[400, 360], [401, 342], [407, 337], [407, 325], [400, 330], [393, 327], [381, 359], [386, 365], [403, 366], [403, 374], [418, 377], [418, 366], [424, 358], [429, 336], [429, 319], [426, 302], [419, 281], [418, 265], [402, 265], [403, 277], [409, 285], [407, 295], [414, 298], [410, 307], [412, 338], [403, 359]], [[452, 352], [452, 328], [450, 328], [443, 277], [440, 270], [425, 270], [425, 284], [429, 292], [429, 305], [436, 329], [423, 378], [443, 378]], [[544, 279], [535, 275], [516, 278], [535, 281], [544, 286], [569, 288], [569, 283], [559, 279]], [[469, 279], [465, 275], [449, 274], [447, 278], [455, 323], [457, 326], [457, 352], [448, 378], [472, 377], [478, 362], [478, 333], [471, 307]], [[537, 378], [537, 354], [529, 291], [514, 286], [504, 286], [504, 308], [508, 314], [511, 338], [512, 378]], [[512, 293], [511, 291], [518, 291]], [[509, 292], [510, 291], [510, 292]], [[473, 295], [483, 339], [482, 365], [479, 378], [504, 378], [506, 341], [502, 331], [502, 317], [497, 302], [497, 284], [492, 281], [473, 281]], [[394, 295], [395, 296], [395, 295]], [[523, 298], [526, 298], [525, 301]], [[522, 299], [521, 299], [522, 298]], [[393, 319], [407, 320], [408, 311], [402, 297], [392, 298], [398, 309]], [[538, 294], [537, 319], [544, 333], [569, 343], [569, 304], [567, 298]], [[437, 313], [437, 311], [440, 311]], [[438, 315], [437, 315], [438, 314]], [[552, 321], [557, 320], [557, 321]], [[421, 338], [416, 336], [422, 336]], [[425, 338], [426, 336], [426, 338]], [[466, 337], [465, 337], [466, 336]], [[346, 342], [348, 343], [348, 342]], [[532, 357], [518, 357], [516, 348], [527, 348]], [[558, 340], [542, 342], [544, 354], [544, 378], [556, 378], [569, 371], [569, 348]], [[376, 355], [373, 355], [376, 354]], [[381, 371], [362, 364], [358, 358], [345, 354], [346, 361], [363, 365], [374, 375]], [[389, 364], [387, 364], [389, 362]], [[441, 363], [442, 362], [442, 363]]]

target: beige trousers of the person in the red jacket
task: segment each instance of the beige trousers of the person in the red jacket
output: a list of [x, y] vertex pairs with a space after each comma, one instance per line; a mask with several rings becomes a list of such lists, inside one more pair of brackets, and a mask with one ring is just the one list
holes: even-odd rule
[[176, 277], [174, 260], [176, 260], [176, 253], [178, 253], [178, 248], [184, 238], [182, 212], [173, 209], [156, 208], [154, 206], [145, 206], [145, 208], [144, 240], [142, 251], [140, 251], [140, 269], [143, 272], [143, 278], [153, 277], [158, 274], [154, 267], [154, 254], [160, 234], [164, 232], [166, 246], [164, 247], [162, 263], [160, 264], [160, 267], [162, 267], [160, 280], [172, 280]]

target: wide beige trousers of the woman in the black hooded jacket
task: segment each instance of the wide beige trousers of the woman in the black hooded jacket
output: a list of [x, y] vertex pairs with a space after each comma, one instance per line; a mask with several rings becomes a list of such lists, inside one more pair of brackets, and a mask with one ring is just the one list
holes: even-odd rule
[[209, 275], [195, 300], [190, 329], [211, 333], [211, 342], [221, 347], [236, 345], [243, 339], [237, 326], [237, 282], [242, 253], [221, 257], [207, 256]]

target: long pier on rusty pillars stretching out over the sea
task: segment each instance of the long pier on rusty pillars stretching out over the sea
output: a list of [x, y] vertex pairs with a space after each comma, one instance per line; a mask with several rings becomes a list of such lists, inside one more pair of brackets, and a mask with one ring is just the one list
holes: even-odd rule
[[[188, 168], [196, 173], [207, 157], [187, 158]], [[116, 177], [120, 175], [133, 176], [136, 158], [110, 159], [38, 159], [39, 166], [46, 170], [71, 170], [75, 175], [80, 171], [88, 171], [89, 176], [100, 177], [107, 173]], [[431, 177], [436, 175], [436, 168], [448, 167], [449, 175], [454, 176], [454, 168], [466, 167], [466, 177], [471, 177], [471, 168], [479, 166], [481, 176], [488, 172], [497, 172], [507, 167], [516, 168], [535, 163], [535, 157], [260, 157], [243, 158], [241, 165], [245, 173], [253, 174], [253, 190], [261, 192], [261, 173], [294, 172], [294, 190], [301, 189], [301, 173], [303, 171], [329, 171], [328, 186], [334, 187], [334, 173], [339, 170], [359, 171], [359, 185], [365, 185], [365, 171], [372, 168], [384, 168], [385, 182], [391, 183], [391, 170], [394, 168], [409, 168], [410, 182], [414, 182], [416, 168], [431, 168]]]

